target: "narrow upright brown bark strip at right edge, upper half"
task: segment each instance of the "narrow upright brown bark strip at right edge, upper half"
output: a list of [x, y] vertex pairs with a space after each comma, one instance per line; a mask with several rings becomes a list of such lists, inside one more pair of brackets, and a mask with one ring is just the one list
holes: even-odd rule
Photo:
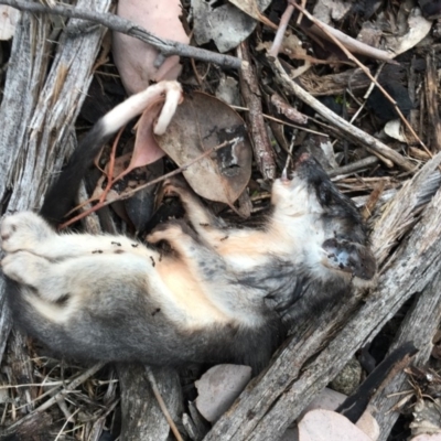
[[427, 54], [426, 56], [426, 101], [428, 109], [428, 119], [430, 127], [430, 137], [428, 143], [432, 152], [441, 151], [441, 121], [439, 114], [439, 95], [438, 95], [438, 72], [434, 64], [433, 52]]

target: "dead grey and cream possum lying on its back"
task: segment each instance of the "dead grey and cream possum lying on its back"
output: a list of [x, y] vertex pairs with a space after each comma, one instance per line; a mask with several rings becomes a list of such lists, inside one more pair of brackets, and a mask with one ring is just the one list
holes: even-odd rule
[[[148, 244], [58, 234], [56, 224], [101, 147], [142, 109], [141, 93], [101, 118], [49, 191], [40, 215], [1, 225], [7, 300], [24, 331], [68, 358], [180, 366], [236, 363], [255, 373], [311, 306], [368, 283], [376, 265], [362, 217], [303, 154], [272, 185], [262, 229], [225, 228], [192, 191], [168, 181], [186, 223]], [[157, 247], [166, 241], [172, 252]]]

